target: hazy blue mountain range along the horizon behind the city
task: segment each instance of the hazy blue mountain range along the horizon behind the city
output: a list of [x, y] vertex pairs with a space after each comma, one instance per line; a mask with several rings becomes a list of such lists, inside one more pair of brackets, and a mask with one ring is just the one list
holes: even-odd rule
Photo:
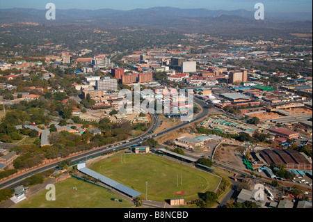
[[222, 29], [311, 29], [312, 13], [265, 14], [264, 20], [255, 20], [253, 11], [209, 10], [155, 7], [134, 10], [56, 10], [56, 20], [47, 20], [47, 10], [12, 8], [0, 9], [0, 24], [35, 22], [40, 24], [83, 24], [120, 28], [172, 29], [179, 31], [216, 31]]

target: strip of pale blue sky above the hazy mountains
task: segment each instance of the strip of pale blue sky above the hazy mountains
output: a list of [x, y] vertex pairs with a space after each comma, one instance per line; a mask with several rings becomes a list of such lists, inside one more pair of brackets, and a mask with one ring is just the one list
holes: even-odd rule
[[0, 0], [0, 8], [45, 9], [47, 3], [54, 3], [58, 9], [112, 8], [131, 10], [168, 6], [175, 8], [208, 8], [210, 10], [246, 9], [254, 11], [255, 3], [263, 3], [271, 13], [312, 12], [312, 0]]

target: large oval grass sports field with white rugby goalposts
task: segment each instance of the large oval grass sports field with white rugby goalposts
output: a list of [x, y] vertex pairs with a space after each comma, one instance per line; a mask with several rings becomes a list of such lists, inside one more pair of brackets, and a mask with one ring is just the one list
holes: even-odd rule
[[[114, 161], [116, 159], [122, 161]], [[184, 197], [186, 201], [194, 200], [198, 198], [198, 192], [214, 191], [220, 182], [220, 177], [156, 154], [116, 154], [96, 162], [90, 169], [135, 189], [142, 193], [143, 199], [145, 182], [148, 182], [147, 199], [162, 202], [179, 197]]]

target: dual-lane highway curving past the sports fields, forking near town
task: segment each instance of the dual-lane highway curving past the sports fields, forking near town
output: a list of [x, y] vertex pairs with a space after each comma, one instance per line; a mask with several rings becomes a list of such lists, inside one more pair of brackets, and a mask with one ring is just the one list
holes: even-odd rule
[[[206, 104], [202, 100], [199, 100], [198, 98], [194, 98], [194, 100], [195, 100], [194, 102], [196, 102], [197, 104], [199, 104], [202, 107], [202, 112], [199, 113], [198, 116], [195, 116], [195, 118], [193, 118], [193, 120], [191, 120], [191, 122], [198, 121], [198, 120], [204, 118], [205, 116], [209, 115], [209, 109], [207, 109]], [[152, 114], [151, 116], [152, 116], [152, 127], [151, 127], [151, 129], [148, 130], [147, 132], [145, 132], [145, 134], [143, 134], [137, 138], [130, 139], [129, 142], [127, 142], [127, 143], [120, 142], [114, 146], [113, 145], [104, 146], [104, 147], [98, 148], [97, 150], [90, 150], [89, 152], [85, 152], [83, 154], [78, 154], [75, 157], [64, 158], [64, 159], [61, 159], [60, 161], [55, 162], [53, 164], [42, 166], [41, 168], [36, 168], [33, 171], [26, 172], [22, 175], [13, 177], [10, 180], [6, 180], [4, 182], [1, 182], [0, 189], [18, 187], [20, 185], [20, 183], [23, 180], [25, 180], [25, 178], [30, 177], [31, 175], [34, 175], [35, 173], [40, 173], [40, 172], [47, 171], [50, 169], [56, 169], [56, 166], [58, 166], [58, 164], [60, 164], [62, 161], [70, 160], [71, 164], [76, 164], [76, 163], [79, 163], [79, 161], [84, 161], [84, 160], [89, 159], [91, 157], [97, 157], [99, 155], [106, 154], [109, 152], [129, 148], [132, 145], [138, 145], [139, 142], [145, 141], [147, 138], [150, 138], [150, 137], [154, 138], [157, 136], [161, 136], [163, 134], [168, 134], [168, 133], [175, 131], [181, 127], [184, 127], [188, 124], [191, 124], [191, 122], [182, 122], [181, 124], [179, 124], [175, 127], [172, 127], [170, 129], [166, 129], [163, 132], [160, 132], [159, 134], [156, 135], [153, 133], [151, 134], [150, 132], [154, 132], [159, 127], [159, 125], [160, 125], [159, 116], [157, 116], [157, 114]]]

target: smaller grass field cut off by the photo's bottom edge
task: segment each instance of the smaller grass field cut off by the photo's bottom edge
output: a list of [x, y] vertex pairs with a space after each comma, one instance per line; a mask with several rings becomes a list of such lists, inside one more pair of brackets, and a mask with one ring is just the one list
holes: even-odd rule
[[[130, 208], [134, 204], [122, 199], [117, 194], [88, 182], [69, 178], [55, 184], [56, 200], [48, 201], [45, 196], [48, 190], [22, 200], [17, 208]], [[74, 190], [73, 187], [77, 187]], [[122, 200], [117, 203], [111, 198]]]

